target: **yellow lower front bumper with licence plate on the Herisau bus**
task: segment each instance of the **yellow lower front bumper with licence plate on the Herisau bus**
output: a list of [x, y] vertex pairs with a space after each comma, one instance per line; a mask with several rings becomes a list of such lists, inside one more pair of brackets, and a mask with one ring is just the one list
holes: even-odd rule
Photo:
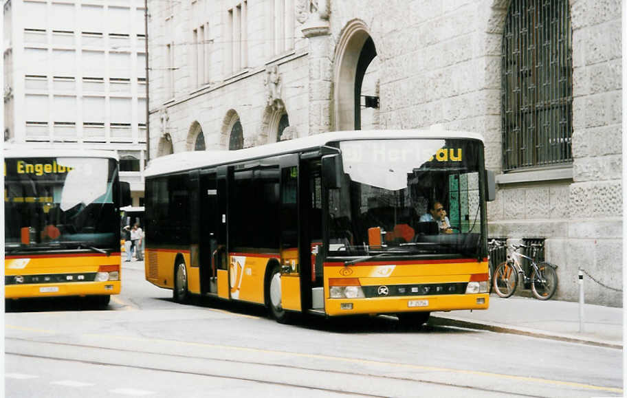
[[327, 298], [325, 310], [329, 316], [383, 314], [418, 311], [454, 311], [458, 309], [487, 309], [489, 294], [452, 294], [438, 296], [400, 296], [376, 298]]

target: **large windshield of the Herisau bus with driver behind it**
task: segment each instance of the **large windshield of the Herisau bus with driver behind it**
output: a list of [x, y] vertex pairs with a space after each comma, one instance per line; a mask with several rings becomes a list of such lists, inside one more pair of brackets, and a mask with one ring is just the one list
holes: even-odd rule
[[344, 175], [341, 188], [329, 190], [329, 256], [479, 255], [481, 143], [355, 140], [339, 147]]

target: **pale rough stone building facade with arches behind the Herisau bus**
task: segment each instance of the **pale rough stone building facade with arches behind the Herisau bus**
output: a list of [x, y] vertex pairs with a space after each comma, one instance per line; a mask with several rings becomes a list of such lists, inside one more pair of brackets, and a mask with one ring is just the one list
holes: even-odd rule
[[[148, 0], [148, 10], [150, 157], [332, 130], [481, 133], [498, 182], [490, 236], [543, 239], [559, 265], [555, 298], [577, 300], [584, 269], [586, 301], [621, 306], [619, 1]], [[525, 51], [562, 58], [511, 74], [523, 36]], [[542, 65], [557, 69], [531, 85]], [[514, 150], [551, 149], [558, 162], [509, 163], [508, 101], [523, 85], [536, 90], [525, 128], [562, 133]], [[550, 87], [562, 96], [542, 100]], [[561, 116], [538, 116], [549, 109]]]

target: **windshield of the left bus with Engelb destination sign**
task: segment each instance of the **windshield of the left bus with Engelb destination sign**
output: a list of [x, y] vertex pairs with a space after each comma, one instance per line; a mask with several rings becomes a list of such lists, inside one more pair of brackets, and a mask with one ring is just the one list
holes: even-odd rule
[[[5, 158], [5, 246], [120, 250], [116, 162], [106, 158]], [[116, 249], [117, 247], [117, 249]]]

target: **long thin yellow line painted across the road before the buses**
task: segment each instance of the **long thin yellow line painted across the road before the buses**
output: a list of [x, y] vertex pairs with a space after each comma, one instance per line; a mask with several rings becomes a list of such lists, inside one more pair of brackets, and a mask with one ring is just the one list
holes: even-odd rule
[[385, 366], [392, 366], [396, 368], [415, 369], [419, 371], [435, 371], [435, 372], [459, 373], [459, 374], [464, 374], [464, 375], [478, 375], [478, 376], [485, 376], [485, 377], [496, 377], [499, 379], [518, 380], [522, 382], [552, 384], [556, 386], [569, 386], [573, 388], [585, 388], [586, 390], [610, 391], [613, 393], [623, 392], [622, 388], [593, 386], [591, 384], [575, 383], [575, 382], [562, 382], [560, 380], [541, 379], [540, 377], [503, 375], [501, 373], [492, 373], [492, 372], [484, 372], [484, 371], [469, 371], [465, 369], [438, 368], [436, 366], [398, 364], [396, 362], [361, 360], [358, 358], [333, 357], [331, 355], [320, 355], [320, 354], [290, 353], [287, 351], [273, 351], [273, 350], [267, 350], [267, 349], [253, 349], [250, 347], [223, 346], [219, 344], [205, 344], [205, 343], [196, 343], [196, 342], [181, 342], [177, 340], [165, 340], [165, 339], [154, 339], [154, 338], [134, 338], [131, 336], [115, 336], [115, 335], [100, 335], [100, 334], [85, 334], [85, 335], [91, 335], [91, 336], [98, 337], [98, 338], [113, 338], [113, 339], [119, 339], [119, 340], [137, 340], [137, 341], [143, 341], [143, 342], [159, 342], [159, 343], [179, 344], [179, 345], [185, 345], [185, 346], [201, 346], [201, 347], [211, 348], [211, 349], [228, 349], [228, 350], [233, 350], [233, 351], [245, 351], [245, 352], [252, 352], [252, 353], [279, 354], [279, 355], [287, 355], [287, 356], [292, 356], [292, 357], [315, 358], [318, 360], [349, 362], [353, 364], [369, 364], [369, 365], [377, 365], [377, 366], [385, 365]]

